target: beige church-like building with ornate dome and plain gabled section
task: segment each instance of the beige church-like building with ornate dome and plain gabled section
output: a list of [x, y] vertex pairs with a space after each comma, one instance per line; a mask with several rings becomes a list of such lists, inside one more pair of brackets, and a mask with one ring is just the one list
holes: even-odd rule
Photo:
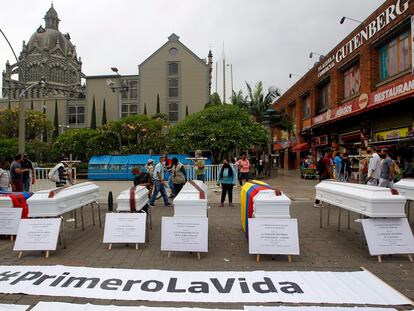
[[[187, 112], [202, 110], [209, 101], [212, 53], [208, 59], [199, 58], [176, 34], [138, 64], [136, 75], [122, 76], [102, 68], [111, 74], [87, 76], [69, 33], [59, 30], [53, 4], [44, 21], [44, 27], [39, 26], [27, 43], [23, 41], [18, 62], [7, 60], [0, 109], [18, 107], [21, 91], [41, 79], [45, 87], [36, 85], [24, 95], [26, 108], [43, 111], [51, 121], [57, 114], [61, 131], [89, 127], [94, 102], [100, 126], [104, 109], [108, 122], [144, 110], [153, 115], [158, 97], [160, 112], [175, 123]], [[119, 86], [124, 86], [123, 91]]]

